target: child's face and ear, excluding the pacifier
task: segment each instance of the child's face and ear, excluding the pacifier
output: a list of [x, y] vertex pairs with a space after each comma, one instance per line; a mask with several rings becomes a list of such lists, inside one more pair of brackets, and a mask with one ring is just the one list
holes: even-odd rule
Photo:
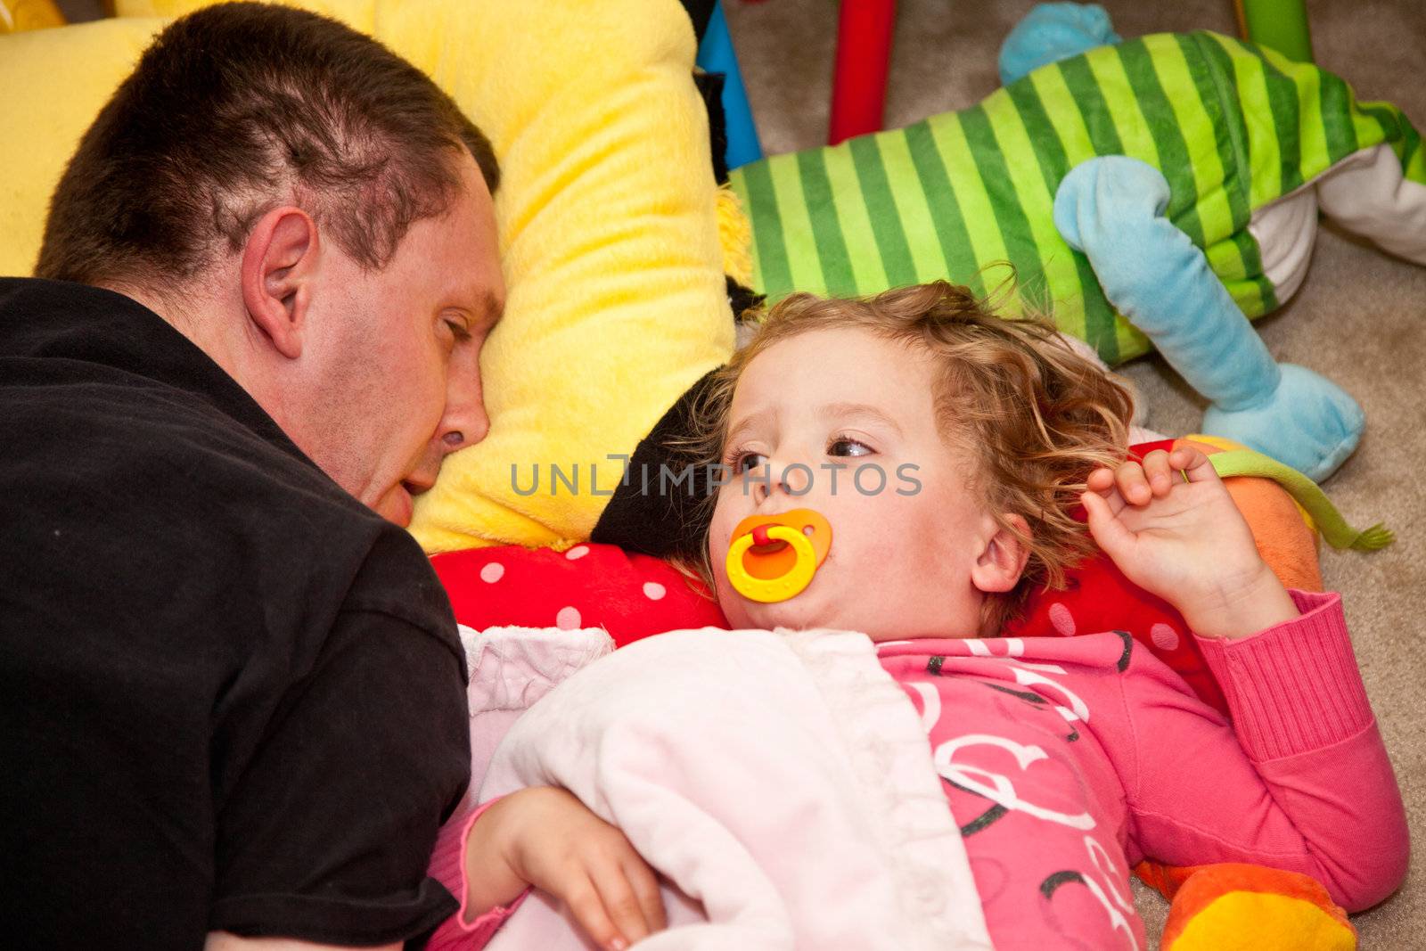
[[[930, 355], [868, 331], [810, 331], [759, 354], [737, 382], [723, 462], [742, 475], [719, 492], [709, 553], [733, 627], [974, 637], [984, 592], [1008, 590], [1022, 567], [941, 438]], [[752, 478], [764, 466], [770, 479]], [[811, 583], [776, 603], [739, 595], [724, 562], [737, 523], [800, 508], [831, 525]]]

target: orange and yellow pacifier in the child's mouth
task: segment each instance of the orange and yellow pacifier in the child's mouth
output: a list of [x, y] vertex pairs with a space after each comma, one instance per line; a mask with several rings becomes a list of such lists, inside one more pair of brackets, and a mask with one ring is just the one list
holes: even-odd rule
[[811, 509], [750, 515], [733, 529], [727, 580], [749, 600], [787, 600], [811, 583], [830, 548], [831, 525]]

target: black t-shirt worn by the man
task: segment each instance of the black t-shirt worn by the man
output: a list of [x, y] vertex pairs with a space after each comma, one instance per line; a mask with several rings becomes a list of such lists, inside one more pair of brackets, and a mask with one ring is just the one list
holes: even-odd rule
[[158, 315], [0, 279], [0, 942], [379, 944], [468, 781], [419, 548]]

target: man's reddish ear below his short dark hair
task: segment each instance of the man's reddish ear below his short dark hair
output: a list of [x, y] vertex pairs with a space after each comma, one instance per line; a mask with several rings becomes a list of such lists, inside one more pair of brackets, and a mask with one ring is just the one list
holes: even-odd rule
[[317, 262], [317, 222], [291, 205], [258, 218], [242, 245], [242, 304], [248, 319], [288, 359], [302, 355]]

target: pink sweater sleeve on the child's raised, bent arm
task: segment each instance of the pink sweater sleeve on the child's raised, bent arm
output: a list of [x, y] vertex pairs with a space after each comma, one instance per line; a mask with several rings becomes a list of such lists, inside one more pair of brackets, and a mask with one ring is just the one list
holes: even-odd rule
[[1352, 656], [1340, 600], [1293, 593], [1302, 616], [1251, 637], [1201, 639], [1233, 723], [1169, 682], [1124, 679], [1135, 763], [1125, 787], [1144, 854], [1174, 865], [1309, 874], [1349, 911], [1406, 871], [1406, 817]]

